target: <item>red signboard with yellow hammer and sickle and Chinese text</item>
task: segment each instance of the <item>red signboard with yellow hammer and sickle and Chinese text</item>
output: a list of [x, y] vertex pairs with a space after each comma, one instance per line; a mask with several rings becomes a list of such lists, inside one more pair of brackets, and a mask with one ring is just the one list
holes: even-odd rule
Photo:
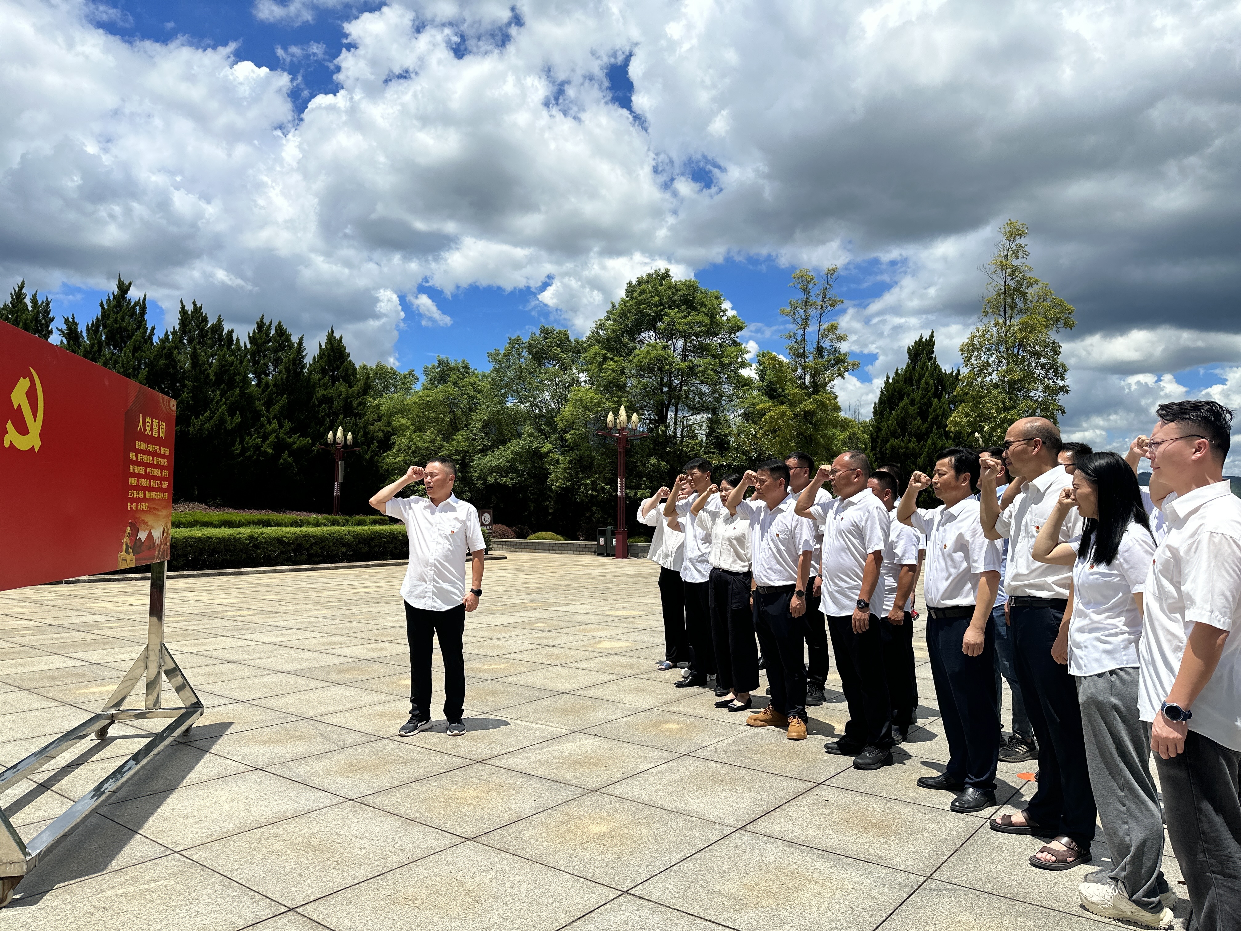
[[176, 401], [0, 323], [0, 591], [168, 559]]

